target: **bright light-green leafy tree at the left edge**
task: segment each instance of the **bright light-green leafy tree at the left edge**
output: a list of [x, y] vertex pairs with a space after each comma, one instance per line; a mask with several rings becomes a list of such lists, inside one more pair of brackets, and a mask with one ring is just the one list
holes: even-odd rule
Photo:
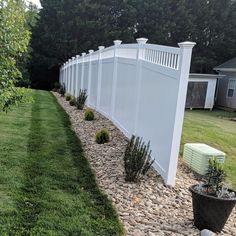
[[6, 111], [24, 98], [24, 90], [15, 86], [21, 77], [16, 59], [27, 50], [30, 39], [24, 1], [0, 0], [0, 24], [0, 109]]

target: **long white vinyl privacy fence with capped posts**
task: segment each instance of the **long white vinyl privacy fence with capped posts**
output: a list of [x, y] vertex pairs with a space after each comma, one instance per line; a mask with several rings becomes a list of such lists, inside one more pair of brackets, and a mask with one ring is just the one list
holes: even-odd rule
[[179, 47], [121, 44], [69, 59], [60, 84], [78, 97], [87, 89], [87, 106], [102, 113], [127, 136], [150, 140], [154, 168], [175, 184], [193, 42]]

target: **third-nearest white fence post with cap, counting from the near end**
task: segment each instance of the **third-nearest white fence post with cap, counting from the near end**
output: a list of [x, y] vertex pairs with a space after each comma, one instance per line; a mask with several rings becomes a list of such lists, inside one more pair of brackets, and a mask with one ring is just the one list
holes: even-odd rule
[[116, 102], [116, 82], [117, 82], [117, 47], [122, 43], [121, 40], [114, 40], [114, 66], [112, 79], [112, 93], [111, 93], [111, 120], [114, 118], [115, 102]]

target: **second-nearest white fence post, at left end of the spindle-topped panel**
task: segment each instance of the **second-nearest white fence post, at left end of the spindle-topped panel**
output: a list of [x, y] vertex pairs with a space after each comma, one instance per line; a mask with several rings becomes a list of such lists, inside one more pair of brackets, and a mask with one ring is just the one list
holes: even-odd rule
[[134, 117], [134, 135], [137, 133], [138, 127], [138, 115], [139, 115], [139, 104], [140, 104], [140, 93], [141, 93], [141, 82], [142, 82], [142, 59], [144, 58], [145, 48], [144, 45], [147, 43], [147, 38], [138, 38], [136, 39], [138, 43], [137, 55], [136, 55], [136, 79], [137, 79], [137, 88], [136, 88], [136, 107], [135, 107], [135, 117]]

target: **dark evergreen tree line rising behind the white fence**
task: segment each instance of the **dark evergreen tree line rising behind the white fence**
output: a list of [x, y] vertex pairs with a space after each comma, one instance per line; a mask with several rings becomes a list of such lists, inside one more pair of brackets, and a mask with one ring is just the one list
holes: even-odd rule
[[195, 41], [193, 72], [236, 55], [235, 0], [41, 0], [33, 29], [31, 83], [49, 89], [68, 58], [115, 39], [176, 46]]

